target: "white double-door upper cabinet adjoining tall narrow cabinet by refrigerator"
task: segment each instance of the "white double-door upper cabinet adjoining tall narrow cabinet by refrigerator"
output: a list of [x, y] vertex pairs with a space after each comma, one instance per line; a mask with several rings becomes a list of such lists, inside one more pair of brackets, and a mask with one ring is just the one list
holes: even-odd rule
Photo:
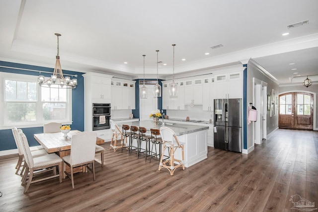
[[202, 79], [188, 79], [185, 80], [184, 87], [184, 103], [202, 105], [203, 101], [203, 83]]

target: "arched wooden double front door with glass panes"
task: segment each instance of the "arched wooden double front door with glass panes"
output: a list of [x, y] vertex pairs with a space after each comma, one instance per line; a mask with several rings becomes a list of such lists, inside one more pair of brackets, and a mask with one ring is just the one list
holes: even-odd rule
[[291, 92], [279, 95], [279, 128], [313, 130], [314, 95]]

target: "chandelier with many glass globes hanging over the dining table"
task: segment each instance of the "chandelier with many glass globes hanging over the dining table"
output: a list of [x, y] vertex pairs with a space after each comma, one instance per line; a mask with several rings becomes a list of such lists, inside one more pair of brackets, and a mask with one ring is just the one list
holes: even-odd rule
[[55, 67], [53, 71], [53, 75], [51, 75], [51, 78], [45, 80], [43, 75], [40, 75], [38, 77], [38, 83], [41, 87], [50, 87], [50, 88], [76, 88], [78, 85], [77, 79], [71, 79], [70, 76], [63, 76], [63, 71], [61, 68], [60, 63], [60, 56], [59, 56], [59, 36], [61, 34], [55, 33], [55, 35], [58, 37], [58, 53], [56, 56], [56, 62]]

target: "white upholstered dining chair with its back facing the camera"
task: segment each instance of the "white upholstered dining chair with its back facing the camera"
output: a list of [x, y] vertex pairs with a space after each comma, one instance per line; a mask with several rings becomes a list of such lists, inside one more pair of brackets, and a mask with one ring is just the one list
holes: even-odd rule
[[[72, 136], [71, 154], [63, 157], [64, 174], [63, 178], [68, 176], [72, 180], [72, 188], [74, 188], [73, 169], [78, 166], [85, 165], [86, 168], [93, 173], [95, 181], [95, 149], [96, 149], [96, 133], [82, 132]], [[89, 164], [92, 164], [92, 168]], [[71, 168], [71, 174], [66, 171], [66, 166]]]

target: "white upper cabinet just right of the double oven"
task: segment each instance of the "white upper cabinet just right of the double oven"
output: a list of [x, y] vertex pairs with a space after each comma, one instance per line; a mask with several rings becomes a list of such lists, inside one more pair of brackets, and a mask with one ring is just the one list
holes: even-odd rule
[[113, 79], [111, 81], [111, 109], [136, 109], [135, 81]]

